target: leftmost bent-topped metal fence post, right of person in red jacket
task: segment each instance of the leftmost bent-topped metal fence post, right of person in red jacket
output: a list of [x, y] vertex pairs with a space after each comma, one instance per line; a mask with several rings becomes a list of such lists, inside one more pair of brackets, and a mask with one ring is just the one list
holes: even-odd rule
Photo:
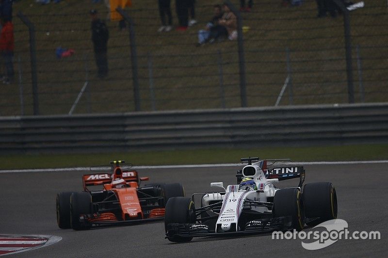
[[31, 82], [32, 82], [32, 99], [33, 114], [39, 115], [38, 100], [38, 76], [36, 73], [36, 46], [35, 46], [35, 27], [33, 23], [22, 12], [17, 13], [17, 17], [28, 27], [30, 34], [30, 56], [31, 56]]

